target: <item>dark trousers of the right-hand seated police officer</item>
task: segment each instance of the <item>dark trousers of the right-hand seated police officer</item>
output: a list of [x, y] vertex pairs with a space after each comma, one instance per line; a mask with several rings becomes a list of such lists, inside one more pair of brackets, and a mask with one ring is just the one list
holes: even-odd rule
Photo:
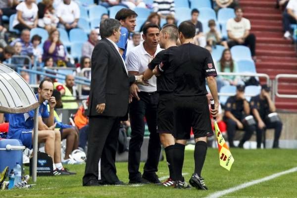
[[273, 147], [278, 147], [279, 145], [279, 139], [281, 136], [281, 132], [283, 129], [283, 123], [281, 121], [277, 122], [265, 122], [266, 127], [263, 129], [260, 129], [258, 126], [256, 127], [256, 134], [257, 134], [257, 148], [261, 148], [262, 143], [262, 136], [265, 135], [266, 129], [274, 129], [274, 141], [273, 141]]

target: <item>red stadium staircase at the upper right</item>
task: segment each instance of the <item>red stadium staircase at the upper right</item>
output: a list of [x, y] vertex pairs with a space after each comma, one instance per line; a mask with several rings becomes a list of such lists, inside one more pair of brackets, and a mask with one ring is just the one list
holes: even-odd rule
[[[244, 17], [251, 22], [256, 36], [256, 70], [270, 79], [277, 74], [297, 74], [297, 52], [292, 41], [283, 38], [282, 12], [275, 8], [275, 0], [240, 0]], [[297, 95], [297, 79], [281, 79], [280, 94]], [[276, 107], [297, 111], [297, 99], [276, 97]]]

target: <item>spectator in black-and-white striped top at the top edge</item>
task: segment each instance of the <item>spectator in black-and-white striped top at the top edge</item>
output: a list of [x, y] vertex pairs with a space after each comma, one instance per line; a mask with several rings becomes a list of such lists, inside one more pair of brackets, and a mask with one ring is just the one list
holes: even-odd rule
[[175, 14], [174, 0], [153, 0], [152, 7], [162, 18], [166, 18], [168, 14]]

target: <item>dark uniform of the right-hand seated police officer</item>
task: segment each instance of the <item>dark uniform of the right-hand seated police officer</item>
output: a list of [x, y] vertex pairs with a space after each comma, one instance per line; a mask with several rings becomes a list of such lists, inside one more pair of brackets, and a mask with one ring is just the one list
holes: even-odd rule
[[[261, 142], [262, 142], [262, 135], [266, 132], [266, 129], [274, 129], [274, 141], [273, 141], [273, 148], [278, 148], [278, 142], [279, 138], [281, 136], [283, 123], [279, 120], [276, 122], [270, 122], [267, 119], [267, 115], [270, 112], [269, 110], [269, 104], [267, 99], [261, 99], [260, 95], [257, 95], [255, 97], [252, 97], [250, 99], [250, 109], [257, 109], [259, 112], [259, 115], [262, 119], [262, 121], [265, 123], [266, 127], [263, 129], [260, 129], [257, 125], [256, 127], [256, 134], [257, 134], [257, 148], [261, 148]], [[257, 120], [256, 120], [257, 121]]]

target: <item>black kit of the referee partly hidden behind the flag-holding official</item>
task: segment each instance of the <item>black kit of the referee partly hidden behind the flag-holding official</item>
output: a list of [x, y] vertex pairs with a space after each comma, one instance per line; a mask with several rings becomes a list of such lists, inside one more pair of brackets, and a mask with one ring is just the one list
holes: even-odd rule
[[[166, 71], [161, 68], [164, 67], [163, 59], [168, 58], [168, 55], [172, 54], [177, 46], [172, 46], [168, 49], [160, 51], [154, 59], [148, 64], [148, 68], [153, 70], [158, 65], [159, 71], [162, 75], [157, 76], [157, 92], [159, 93], [158, 101], [158, 117], [157, 117], [157, 132], [168, 133], [173, 132], [173, 91], [174, 91], [174, 73], [173, 68], [170, 65]], [[164, 61], [168, 64], [168, 61]], [[163, 71], [163, 72], [162, 72]]]

